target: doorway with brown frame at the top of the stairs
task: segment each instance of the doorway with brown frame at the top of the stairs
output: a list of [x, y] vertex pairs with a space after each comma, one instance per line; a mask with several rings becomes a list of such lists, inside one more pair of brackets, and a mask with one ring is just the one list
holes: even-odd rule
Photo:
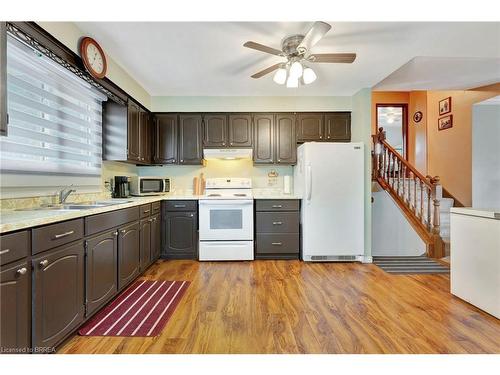
[[408, 105], [377, 104], [377, 129], [380, 127], [386, 142], [408, 160]]

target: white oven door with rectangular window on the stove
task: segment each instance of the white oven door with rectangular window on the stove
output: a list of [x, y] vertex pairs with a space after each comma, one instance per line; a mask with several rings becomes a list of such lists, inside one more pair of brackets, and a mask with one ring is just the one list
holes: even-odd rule
[[253, 200], [199, 201], [200, 241], [252, 241]]

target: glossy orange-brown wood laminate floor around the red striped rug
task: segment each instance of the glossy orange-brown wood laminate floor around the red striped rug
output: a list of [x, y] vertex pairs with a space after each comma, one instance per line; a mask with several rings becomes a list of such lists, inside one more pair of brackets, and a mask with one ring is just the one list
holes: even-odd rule
[[74, 336], [59, 353], [500, 353], [500, 320], [452, 296], [448, 275], [158, 261], [143, 278], [191, 281], [159, 336]]

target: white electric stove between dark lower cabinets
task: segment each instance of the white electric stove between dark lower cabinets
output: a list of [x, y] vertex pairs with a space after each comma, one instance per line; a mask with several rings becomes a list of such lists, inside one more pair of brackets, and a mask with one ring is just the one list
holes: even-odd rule
[[252, 180], [209, 178], [198, 202], [199, 259], [253, 260]]

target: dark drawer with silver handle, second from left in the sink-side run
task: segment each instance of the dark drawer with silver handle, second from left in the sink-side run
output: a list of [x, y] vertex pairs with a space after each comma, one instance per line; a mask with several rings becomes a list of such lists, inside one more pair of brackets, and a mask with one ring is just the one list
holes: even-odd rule
[[83, 219], [46, 225], [32, 231], [33, 254], [83, 238]]

